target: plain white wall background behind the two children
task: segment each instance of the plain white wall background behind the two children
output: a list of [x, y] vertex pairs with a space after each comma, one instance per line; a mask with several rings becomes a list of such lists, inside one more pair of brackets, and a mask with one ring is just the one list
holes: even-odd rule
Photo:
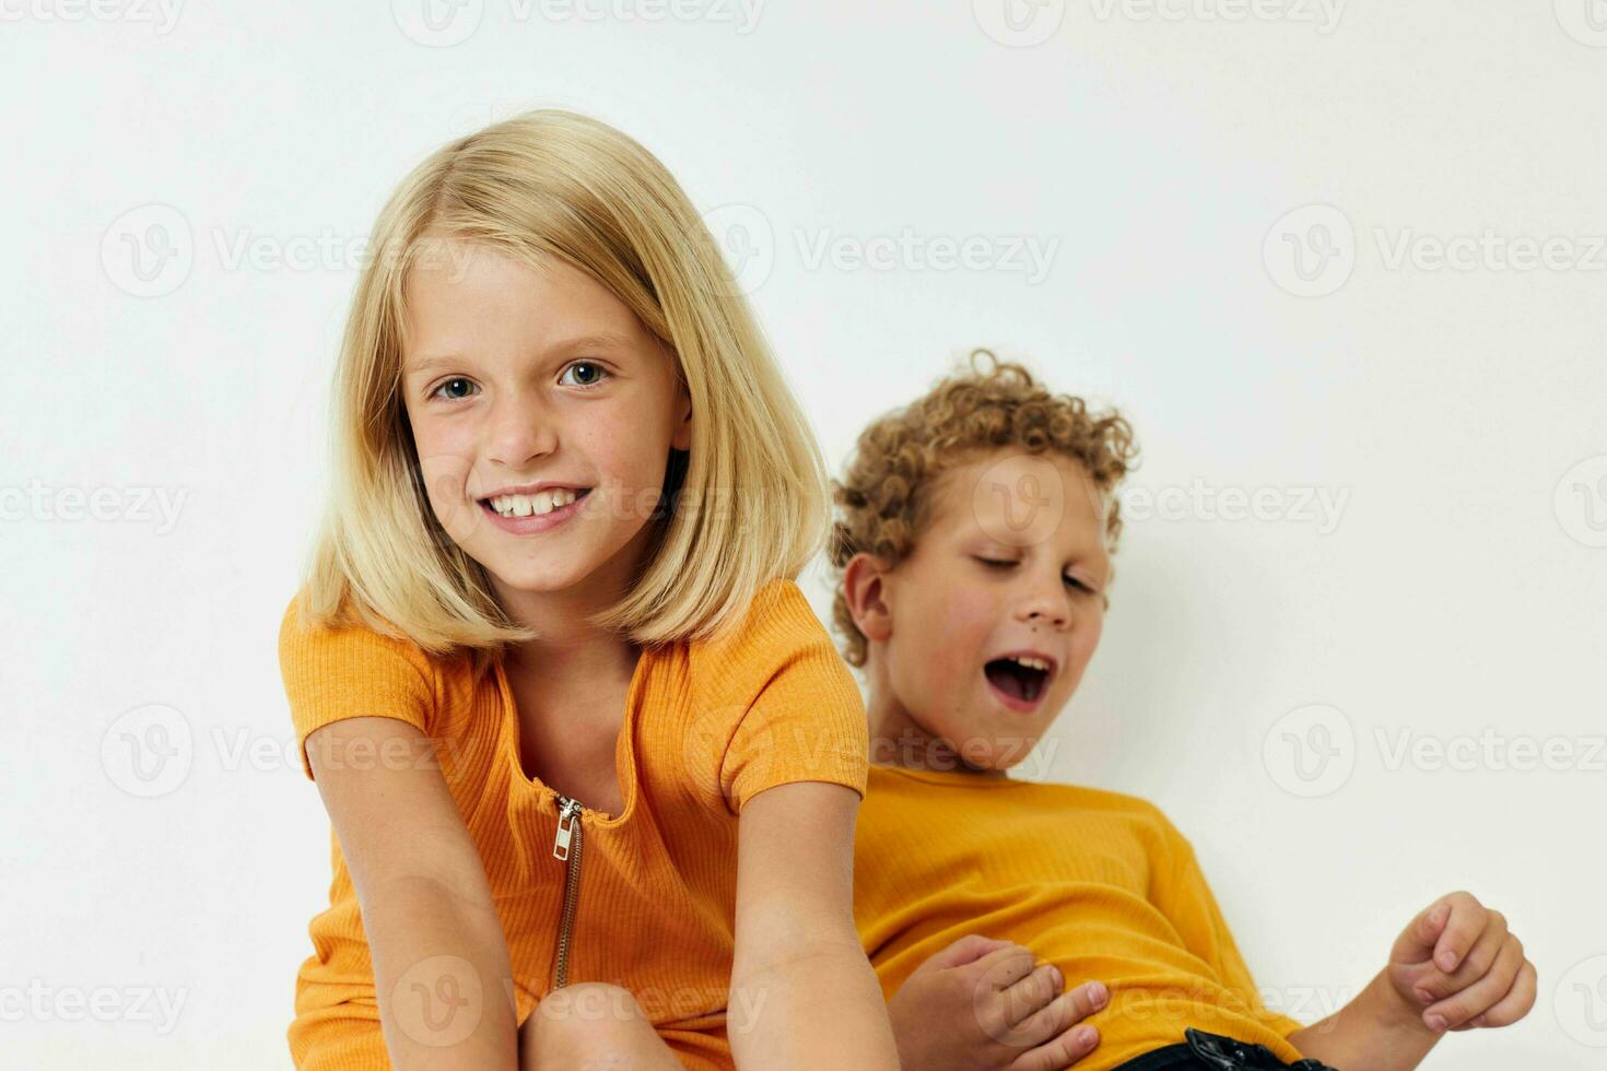
[[1133, 419], [1172, 507], [1033, 772], [1163, 806], [1271, 999], [1318, 1018], [1469, 888], [1541, 996], [1425, 1066], [1607, 1066], [1607, 8], [1012, 2], [0, 2], [6, 1066], [288, 1066], [328, 825], [275, 636], [352, 262], [529, 106], [738, 206], [834, 469], [972, 344]]

